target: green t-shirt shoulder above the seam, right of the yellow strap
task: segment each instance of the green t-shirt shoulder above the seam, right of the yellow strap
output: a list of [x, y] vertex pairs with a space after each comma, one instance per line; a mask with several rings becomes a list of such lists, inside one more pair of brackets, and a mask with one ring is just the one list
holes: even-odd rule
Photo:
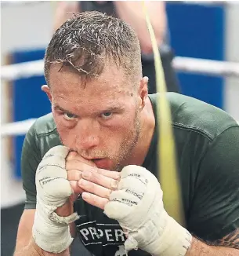
[[[167, 93], [167, 97], [172, 111], [172, 126], [176, 130], [201, 133], [212, 141], [223, 131], [238, 126], [228, 113], [204, 101], [179, 93]], [[156, 104], [157, 94], [150, 98]]]

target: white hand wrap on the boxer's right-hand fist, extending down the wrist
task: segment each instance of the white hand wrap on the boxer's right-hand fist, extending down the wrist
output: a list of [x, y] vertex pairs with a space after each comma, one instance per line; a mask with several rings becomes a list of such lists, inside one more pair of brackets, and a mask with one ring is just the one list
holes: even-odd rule
[[121, 170], [118, 190], [111, 193], [104, 213], [126, 229], [126, 251], [139, 247], [152, 255], [186, 254], [192, 236], [168, 216], [162, 196], [160, 184], [150, 171], [141, 166]]

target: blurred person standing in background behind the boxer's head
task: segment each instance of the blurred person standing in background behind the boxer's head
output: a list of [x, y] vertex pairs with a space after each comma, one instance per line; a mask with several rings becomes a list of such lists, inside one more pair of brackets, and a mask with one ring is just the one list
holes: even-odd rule
[[[173, 52], [168, 44], [167, 15], [164, 1], [147, 2], [150, 21], [161, 53], [161, 61], [165, 71], [165, 82], [169, 92], [180, 93], [176, 71], [172, 68]], [[128, 23], [139, 38], [142, 55], [143, 75], [149, 78], [149, 93], [156, 93], [154, 56], [150, 35], [147, 29], [142, 2], [137, 1], [63, 1], [57, 2], [54, 17], [54, 30], [68, 18], [69, 13], [83, 11], [100, 11], [121, 18]]]

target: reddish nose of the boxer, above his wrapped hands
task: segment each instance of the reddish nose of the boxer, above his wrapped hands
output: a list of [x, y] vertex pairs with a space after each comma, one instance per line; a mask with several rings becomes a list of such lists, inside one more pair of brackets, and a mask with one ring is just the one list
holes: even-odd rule
[[82, 120], [76, 127], [76, 146], [81, 150], [89, 150], [99, 145], [100, 126], [92, 120]]

